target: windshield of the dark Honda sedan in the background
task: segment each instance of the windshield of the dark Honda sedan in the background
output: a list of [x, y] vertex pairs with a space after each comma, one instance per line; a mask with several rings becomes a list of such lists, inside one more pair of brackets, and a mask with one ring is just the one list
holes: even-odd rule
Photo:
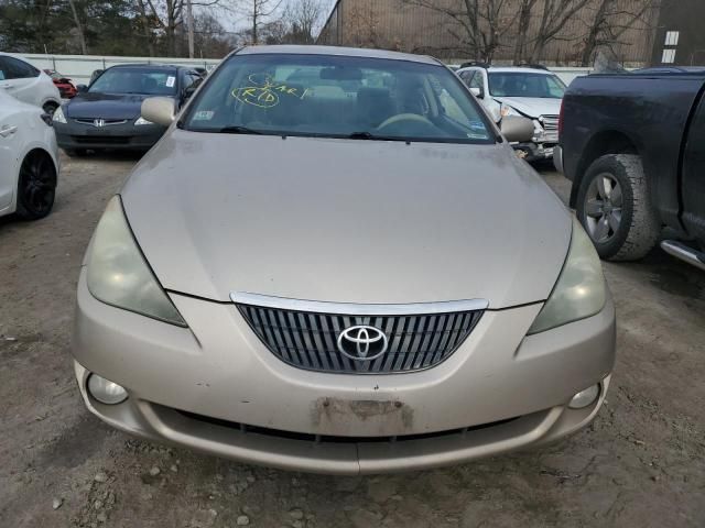
[[106, 69], [90, 85], [88, 91], [172, 96], [176, 91], [176, 72], [149, 68], [110, 68]]

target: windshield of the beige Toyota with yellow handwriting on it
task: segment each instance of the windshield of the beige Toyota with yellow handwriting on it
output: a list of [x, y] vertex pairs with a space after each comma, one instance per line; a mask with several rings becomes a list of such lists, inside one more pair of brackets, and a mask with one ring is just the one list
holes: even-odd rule
[[235, 55], [207, 80], [181, 127], [197, 132], [495, 141], [473, 98], [444, 66], [334, 55]]

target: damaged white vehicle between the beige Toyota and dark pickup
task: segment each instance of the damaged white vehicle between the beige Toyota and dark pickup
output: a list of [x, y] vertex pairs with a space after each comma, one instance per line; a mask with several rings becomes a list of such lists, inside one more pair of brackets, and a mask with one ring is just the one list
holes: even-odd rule
[[553, 157], [558, 143], [558, 113], [565, 84], [547, 69], [534, 67], [468, 66], [456, 72], [490, 117], [522, 116], [534, 124], [530, 142], [513, 145], [527, 161]]

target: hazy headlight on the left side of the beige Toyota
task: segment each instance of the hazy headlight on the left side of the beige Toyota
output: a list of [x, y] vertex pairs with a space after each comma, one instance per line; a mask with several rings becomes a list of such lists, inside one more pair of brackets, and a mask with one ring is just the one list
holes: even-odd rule
[[98, 300], [182, 327], [186, 322], [169, 299], [137, 245], [120, 197], [98, 222], [88, 265], [88, 289]]

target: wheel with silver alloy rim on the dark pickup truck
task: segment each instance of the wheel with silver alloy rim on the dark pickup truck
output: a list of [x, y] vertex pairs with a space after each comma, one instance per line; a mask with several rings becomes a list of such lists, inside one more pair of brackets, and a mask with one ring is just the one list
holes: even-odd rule
[[649, 199], [641, 158], [608, 154], [595, 160], [581, 182], [577, 218], [603, 258], [633, 261], [649, 253], [661, 223]]

